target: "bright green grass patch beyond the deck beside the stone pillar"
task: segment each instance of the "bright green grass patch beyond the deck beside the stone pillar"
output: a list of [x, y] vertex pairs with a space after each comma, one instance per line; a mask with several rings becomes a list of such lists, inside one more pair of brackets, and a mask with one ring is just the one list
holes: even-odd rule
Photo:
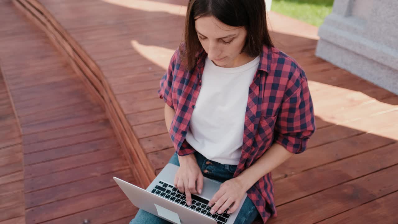
[[333, 0], [272, 0], [271, 11], [320, 26], [332, 12]]

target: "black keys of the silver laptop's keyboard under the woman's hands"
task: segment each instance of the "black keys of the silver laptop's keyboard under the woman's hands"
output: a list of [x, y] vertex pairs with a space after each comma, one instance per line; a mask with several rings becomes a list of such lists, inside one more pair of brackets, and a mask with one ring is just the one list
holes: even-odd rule
[[159, 181], [159, 183], [157, 183], [157, 185], [151, 192], [163, 198], [171, 200], [177, 204], [181, 204], [187, 208], [190, 208], [191, 210], [207, 215], [210, 218], [216, 220], [217, 224], [225, 224], [228, 221], [228, 218], [230, 217], [230, 214], [226, 213], [228, 209], [225, 210], [225, 212], [222, 214], [215, 213], [212, 215], [210, 213], [211, 207], [207, 206], [207, 204], [209, 204], [209, 201], [197, 195], [191, 195], [192, 196], [191, 206], [188, 206], [185, 193], [179, 192], [179, 190], [176, 187], [174, 187], [174, 185], [171, 185], [169, 183], [164, 183], [164, 181]]

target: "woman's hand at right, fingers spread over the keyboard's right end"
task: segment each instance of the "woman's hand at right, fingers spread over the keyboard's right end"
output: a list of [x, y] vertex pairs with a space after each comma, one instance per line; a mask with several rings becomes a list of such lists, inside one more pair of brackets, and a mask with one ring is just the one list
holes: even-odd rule
[[246, 189], [240, 179], [232, 178], [225, 181], [209, 202], [210, 207], [214, 204], [210, 213], [214, 214], [217, 211], [218, 214], [222, 214], [234, 202], [232, 208], [227, 211], [228, 214], [231, 214], [238, 209], [245, 193]]

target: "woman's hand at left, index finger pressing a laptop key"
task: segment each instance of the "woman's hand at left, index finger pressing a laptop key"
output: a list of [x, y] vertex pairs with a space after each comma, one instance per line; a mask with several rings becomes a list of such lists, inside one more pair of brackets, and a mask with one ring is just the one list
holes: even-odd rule
[[179, 168], [174, 178], [174, 186], [181, 193], [185, 192], [187, 204], [191, 205], [191, 194], [201, 194], [203, 189], [203, 174], [197, 164], [195, 155], [178, 156]]

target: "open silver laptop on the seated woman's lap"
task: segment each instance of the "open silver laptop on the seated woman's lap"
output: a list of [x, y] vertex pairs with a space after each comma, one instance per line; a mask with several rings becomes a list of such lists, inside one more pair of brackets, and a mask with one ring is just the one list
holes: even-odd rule
[[174, 224], [233, 224], [242, 204], [247, 197], [245, 193], [238, 209], [232, 214], [210, 214], [207, 206], [221, 183], [203, 177], [203, 189], [200, 195], [192, 194], [191, 206], [187, 205], [185, 193], [173, 185], [178, 166], [168, 163], [146, 190], [131, 183], [113, 177], [130, 201], [151, 214]]

